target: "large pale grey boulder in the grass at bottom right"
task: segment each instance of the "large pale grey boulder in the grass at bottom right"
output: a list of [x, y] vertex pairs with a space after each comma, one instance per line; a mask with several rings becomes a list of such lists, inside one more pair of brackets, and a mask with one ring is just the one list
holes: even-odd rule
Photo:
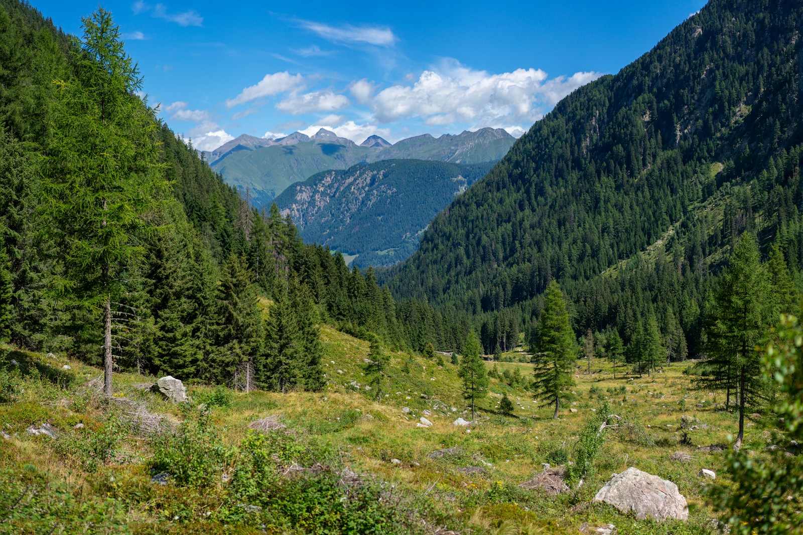
[[633, 467], [613, 476], [594, 501], [613, 505], [622, 513], [633, 511], [642, 520], [648, 516], [658, 520], [689, 517], [686, 498], [678, 492], [678, 485]]

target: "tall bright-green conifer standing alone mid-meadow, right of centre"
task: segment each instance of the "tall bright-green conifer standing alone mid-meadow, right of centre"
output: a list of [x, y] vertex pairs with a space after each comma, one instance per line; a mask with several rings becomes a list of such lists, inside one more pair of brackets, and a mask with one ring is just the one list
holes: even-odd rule
[[544, 295], [536, 349], [533, 367], [535, 396], [544, 401], [544, 406], [555, 404], [553, 418], [557, 419], [560, 399], [568, 399], [567, 391], [574, 386], [572, 370], [577, 361], [577, 352], [566, 302], [554, 279]]

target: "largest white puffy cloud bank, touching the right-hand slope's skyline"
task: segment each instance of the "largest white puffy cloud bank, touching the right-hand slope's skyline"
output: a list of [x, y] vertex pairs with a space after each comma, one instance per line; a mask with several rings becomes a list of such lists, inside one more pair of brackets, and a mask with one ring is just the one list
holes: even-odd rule
[[412, 117], [430, 126], [533, 123], [548, 107], [599, 75], [578, 72], [548, 79], [546, 72], [533, 68], [491, 74], [446, 59], [410, 85], [380, 91], [370, 106], [381, 123]]

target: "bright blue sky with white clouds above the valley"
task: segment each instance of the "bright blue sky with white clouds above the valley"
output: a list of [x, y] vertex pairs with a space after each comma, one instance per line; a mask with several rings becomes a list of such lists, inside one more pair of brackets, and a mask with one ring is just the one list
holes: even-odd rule
[[491, 126], [520, 136], [649, 51], [704, 0], [31, 0], [64, 30], [112, 11], [149, 103], [210, 150], [318, 128], [361, 143]]

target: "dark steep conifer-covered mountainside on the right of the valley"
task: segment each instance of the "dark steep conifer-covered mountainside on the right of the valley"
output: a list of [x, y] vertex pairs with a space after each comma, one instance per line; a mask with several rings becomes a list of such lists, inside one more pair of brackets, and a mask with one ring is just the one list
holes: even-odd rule
[[578, 334], [629, 342], [654, 315], [696, 354], [741, 233], [801, 269], [801, 24], [800, 2], [712, 0], [577, 89], [435, 218], [390, 272], [393, 293], [479, 314], [493, 351], [556, 278]]

